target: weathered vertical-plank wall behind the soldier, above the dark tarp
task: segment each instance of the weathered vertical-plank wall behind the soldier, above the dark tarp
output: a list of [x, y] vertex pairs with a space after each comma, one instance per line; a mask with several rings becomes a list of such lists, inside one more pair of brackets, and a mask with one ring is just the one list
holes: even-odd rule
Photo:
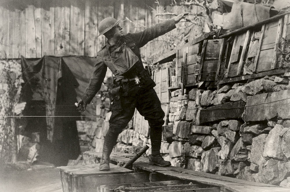
[[[3, 0], [0, 3], [0, 59], [21, 55], [26, 58], [96, 56], [106, 42], [104, 36], [98, 37], [98, 23], [102, 19], [115, 17], [122, 21], [125, 32], [141, 31], [160, 22], [151, 9], [156, 3], [150, 3], [37, 0], [15, 5], [15, 2]], [[141, 49], [141, 54], [149, 55], [155, 51], [153, 48], [154, 42], [150, 42]]]

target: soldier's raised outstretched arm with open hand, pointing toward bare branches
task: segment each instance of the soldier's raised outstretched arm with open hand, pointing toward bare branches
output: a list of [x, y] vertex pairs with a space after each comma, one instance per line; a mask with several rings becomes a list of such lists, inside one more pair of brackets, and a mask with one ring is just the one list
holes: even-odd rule
[[169, 19], [163, 23], [157, 23], [150, 28], [145, 29], [144, 31], [132, 33], [133, 39], [139, 47], [143, 47], [149, 41], [161, 36], [173, 29], [176, 28], [175, 24], [178, 23], [184, 14], [179, 14], [178, 16]]

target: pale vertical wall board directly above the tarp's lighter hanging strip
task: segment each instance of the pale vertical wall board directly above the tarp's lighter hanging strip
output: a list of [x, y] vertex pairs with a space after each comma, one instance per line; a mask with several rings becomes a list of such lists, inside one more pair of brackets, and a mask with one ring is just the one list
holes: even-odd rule
[[41, 1], [41, 45], [42, 56], [55, 54], [55, 8]]

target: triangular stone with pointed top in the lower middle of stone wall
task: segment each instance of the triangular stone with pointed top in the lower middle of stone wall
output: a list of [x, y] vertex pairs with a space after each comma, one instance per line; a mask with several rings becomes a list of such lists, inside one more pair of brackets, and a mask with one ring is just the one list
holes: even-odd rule
[[240, 138], [230, 153], [230, 159], [234, 161], [245, 161], [248, 158], [248, 150], [246, 145], [242, 142]]

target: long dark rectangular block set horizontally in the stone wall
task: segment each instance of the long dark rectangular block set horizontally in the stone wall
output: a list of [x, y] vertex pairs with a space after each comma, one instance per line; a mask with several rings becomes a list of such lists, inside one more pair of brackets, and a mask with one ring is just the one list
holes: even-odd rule
[[202, 125], [209, 122], [241, 118], [244, 106], [245, 103], [243, 101], [236, 101], [202, 109], [198, 118], [199, 123]]

